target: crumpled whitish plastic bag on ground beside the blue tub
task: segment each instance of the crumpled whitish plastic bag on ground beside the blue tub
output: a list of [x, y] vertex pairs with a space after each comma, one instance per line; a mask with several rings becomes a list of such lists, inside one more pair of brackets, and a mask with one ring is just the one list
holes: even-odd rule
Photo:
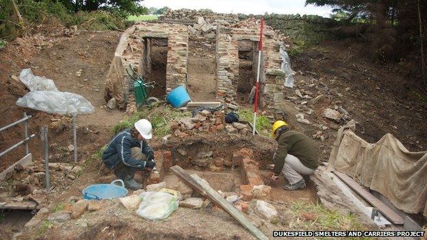
[[142, 202], [136, 214], [146, 219], [165, 219], [178, 209], [177, 198], [161, 191], [144, 191], [140, 197]]

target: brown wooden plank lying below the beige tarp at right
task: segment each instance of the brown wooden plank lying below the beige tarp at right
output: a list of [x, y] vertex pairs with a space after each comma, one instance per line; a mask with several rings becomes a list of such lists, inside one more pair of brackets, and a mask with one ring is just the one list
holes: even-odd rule
[[383, 213], [385, 217], [387, 217], [393, 224], [399, 224], [402, 225], [404, 223], [404, 219], [398, 215], [398, 213], [394, 212], [392, 209], [389, 208], [386, 204], [378, 200], [374, 195], [372, 195], [367, 189], [363, 188], [359, 183], [353, 180], [353, 178], [350, 178], [350, 176], [347, 176], [347, 174], [344, 174], [342, 172], [333, 171], [335, 175], [341, 179], [348, 187], [353, 189], [357, 192], [362, 198], [367, 200], [372, 206], [374, 206], [380, 213]]

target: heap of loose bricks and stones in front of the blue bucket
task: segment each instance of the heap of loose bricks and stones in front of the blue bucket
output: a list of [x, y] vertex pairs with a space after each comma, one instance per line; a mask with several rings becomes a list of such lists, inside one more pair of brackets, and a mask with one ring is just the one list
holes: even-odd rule
[[195, 133], [213, 133], [223, 131], [225, 128], [225, 118], [222, 111], [199, 111], [194, 118], [182, 118], [170, 123], [173, 135], [177, 137], [187, 137]]

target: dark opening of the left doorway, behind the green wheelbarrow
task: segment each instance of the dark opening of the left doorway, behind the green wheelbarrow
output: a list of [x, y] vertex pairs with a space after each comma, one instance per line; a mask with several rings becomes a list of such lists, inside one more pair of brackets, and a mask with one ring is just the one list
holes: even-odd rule
[[166, 67], [168, 62], [168, 38], [144, 38], [142, 76], [146, 82], [154, 81], [155, 88], [149, 96], [166, 96]]

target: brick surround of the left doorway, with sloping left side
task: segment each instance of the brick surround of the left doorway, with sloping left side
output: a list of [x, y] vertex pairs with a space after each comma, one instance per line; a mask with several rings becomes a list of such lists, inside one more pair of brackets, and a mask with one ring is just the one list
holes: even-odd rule
[[[138, 23], [127, 29], [121, 36], [114, 53], [112, 65], [107, 74], [105, 101], [115, 97], [120, 107], [128, 103], [129, 90], [133, 81], [126, 68], [132, 64], [138, 72], [144, 72], [144, 38], [168, 38], [166, 65], [166, 92], [187, 82], [188, 29], [185, 25], [167, 23]], [[146, 65], [146, 66], [149, 66]]]

